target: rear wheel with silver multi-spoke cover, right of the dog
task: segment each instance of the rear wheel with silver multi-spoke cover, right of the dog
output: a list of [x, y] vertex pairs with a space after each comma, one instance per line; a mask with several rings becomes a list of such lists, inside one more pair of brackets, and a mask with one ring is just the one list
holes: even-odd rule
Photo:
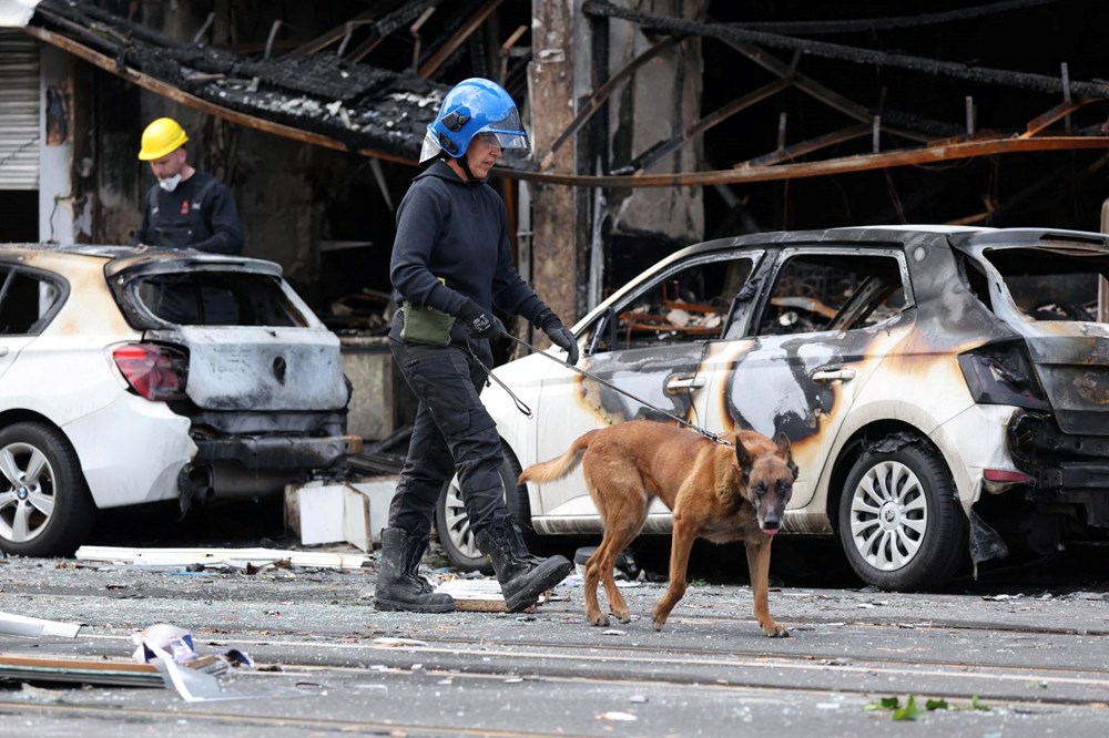
[[968, 557], [955, 483], [924, 441], [863, 452], [844, 484], [838, 533], [855, 573], [882, 590], [942, 587]]

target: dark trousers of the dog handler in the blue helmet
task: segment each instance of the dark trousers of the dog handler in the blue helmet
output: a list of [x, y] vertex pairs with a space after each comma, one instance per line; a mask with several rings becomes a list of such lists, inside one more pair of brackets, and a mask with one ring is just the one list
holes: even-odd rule
[[[492, 366], [489, 341], [470, 341], [481, 363]], [[426, 536], [439, 492], [458, 473], [470, 527], [478, 531], [509, 515], [497, 424], [479, 394], [486, 371], [458, 346], [389, 340], [408, 387], [419, 400], [408, 458], [389, 506], [389, 526]]]

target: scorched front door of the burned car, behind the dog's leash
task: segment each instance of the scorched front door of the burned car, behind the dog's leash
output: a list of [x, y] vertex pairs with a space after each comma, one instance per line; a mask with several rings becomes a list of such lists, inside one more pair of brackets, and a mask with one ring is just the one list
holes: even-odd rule
[[[678, 417], [704, 426], [709, 348], [761, 254], [715, 250], [664, 263], [598, 311], [579, 330], [584, 346], [579, 366], [603, 382], [562, 369], [545, 377], [537, 458], [557, 457], [581, 433], [624, 420], [673, 423]], [[540, 527], [543, 516], [557, 516], [559, 530], [569, 532], [580, 516], [587, 526], [581, 530], [597, 529], [597, 511], [580, 478], [540, 485], [540, 492], [541, 510], [531, 511]], [[652, 513], [662, 520], [649, 521], [647, 530], [652, 522], [669, 525], [664, 508]]]

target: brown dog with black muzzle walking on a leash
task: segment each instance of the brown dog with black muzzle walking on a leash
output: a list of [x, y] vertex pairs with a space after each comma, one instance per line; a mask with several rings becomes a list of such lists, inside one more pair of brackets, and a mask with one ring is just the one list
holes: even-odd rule
[[670, 554], [670, 587], [654, 606], [654, 628], [661, 629], [685, 594], [685, 568], [693, 540], [714, 543], [743, 540], [747, 552], [755, 618], [767, 636], [787, 636], [771, 617], [766, 602], [770, 545], [782, 524], [793, 493], [797, 468], [790, 439], [777, 443], [755, 431], [722, 435], [732, 445], [699, 433], [650, 420], [632, 420], [592, 430], [570, 444], [561, 457], [533, 464], [520, 482], [551, 482], [573, 471], [579, 460], [586, 485], [601, 513], [604, 535], [586, 562], [586, 618], [608, 625], [597, 603], [598, 580], [604, 582], [609, 607], [621, 623], [631, 618], [628, 604], [612, 578], [615, 557], [647, 522], [652, 496], [674, 515]]

